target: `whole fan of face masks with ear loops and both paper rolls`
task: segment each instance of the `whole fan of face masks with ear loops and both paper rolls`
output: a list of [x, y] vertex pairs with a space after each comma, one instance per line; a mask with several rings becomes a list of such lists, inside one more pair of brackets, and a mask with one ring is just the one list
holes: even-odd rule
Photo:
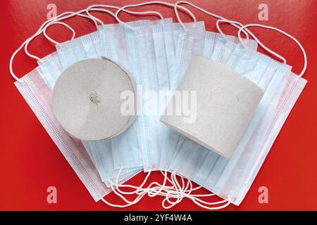
[[[178, 23], [156, 11], [126, 9], [148, 4], [174, 8]], [[181, 4], [218, 18], [219, 32], [206, 31], [204, 22]], [[104, 24], [93, 11], [118, 23]], [[160, 19], [125, 23], [118, 18], [122, 11]], [[193, 22], [182, 23], [179, 11]], [[75, 38], [75, 30], [63, 22], [73, 16], [91, 20], [97, 30]], [[237, 37], [223, 34], [220, 23], [236, 27]], [[58, 43], [49, 37], [46, 29], [56, 24], [73, 32], [72, 39]], [[275, 30], [295, 41], [304, 54], [300, 75], [248, 27]], [[56, 52], [38, 58], [27, 51], [39, 34], [56, 44]], [[258, 44], [282, 63], [256, 51]], [[38, 67], [18, 78], [13, 58], [23, 47]], [[278, 28], [242, 25], [187, 1], [150, 1], [61, 13], [13, 53], [10, 71], [94, 200], [127, 207], [145, 195], [161, 195], [164, 208], [189, 198], [218, 210], [240, 205], [247, 194], [306, 85], [306, 61], [299, 41]], [[147, 172], [142, 184], [124, 184], [142, 171]], [[147, 184], [153, 171], [163, 174], [162, 183]], [[201, 188], [210, 193], [202, 194]], [[123, 205], [106, 200], [111, 191]], [[211, 200], [213, 195], [223, 200]]]

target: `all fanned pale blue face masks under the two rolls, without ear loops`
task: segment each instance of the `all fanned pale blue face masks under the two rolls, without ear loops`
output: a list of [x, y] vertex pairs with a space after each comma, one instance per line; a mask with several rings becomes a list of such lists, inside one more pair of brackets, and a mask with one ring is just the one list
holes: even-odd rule
[[[185, 28], [171, 19], [102, 25], [97, 32], [58, 44], [56, 53], [39, 60], [39, 68], [15, 85], [94, 200], [111, 191], [107, 186], [116, 183], [121, 170], [118, 184], [142, 169], [167, 169], [240, 205], [306, 84], [290, 66], [256, 52], [256, 41], [247, 40], [245, 45], [236, 37], [205, 32], [203, 22], [187, 23]], [[223, 63], [265, 91], [230, 160], [159, 122], [195, 54]], [[58, 124], [51, 90], [70, 65], [101, 56], [135, 78], [139, 114], [113, 139], [77, 141]], [[160, 91], [165, 92], [163, 98]]]

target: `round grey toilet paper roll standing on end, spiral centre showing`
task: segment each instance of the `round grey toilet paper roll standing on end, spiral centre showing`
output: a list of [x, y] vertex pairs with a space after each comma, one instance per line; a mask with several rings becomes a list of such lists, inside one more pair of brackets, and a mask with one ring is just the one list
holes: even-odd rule
[[[53, 110], [75, 139], [99, 141], [121, 134], [132, 124], [135, 96], [133, 78], [118, 64], [107, 58], [81, 60], [58, 77]], [[123, 107], [127, 100], [128, 113]]]

